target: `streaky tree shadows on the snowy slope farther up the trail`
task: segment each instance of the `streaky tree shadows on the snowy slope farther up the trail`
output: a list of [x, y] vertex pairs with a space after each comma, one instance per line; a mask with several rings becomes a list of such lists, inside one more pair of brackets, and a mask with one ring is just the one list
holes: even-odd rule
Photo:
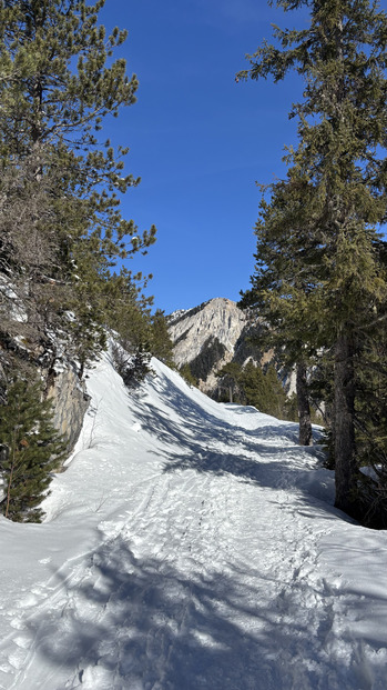
[[[317, 499], [328, 513], [347, 517], [333, 508], [333, 473], [325, 481], [310, 481], [325, 458], [320, 448], [297, 444], [298, 424], [262, 416], [254, 408], [231, 406], [234, 418], [254, 414], [256, 427], [245, 428], [211, 414], [166, 377], [159, 377], [159, 390], [170, 404], [164, 412], [153, 403], [139, 401], [136, 417], [143, 430], [160, 441], [152, 453], [164, 461], [164, 472], [194, 470], [213, 476], [232, 474], [240, 481], [271, 489], [297, 490], [305, 504]], [[176, 410], [173, 417], [171, 411]], [[247, 412], [246, 412], [247, 410]], [[273, 421], [272, 421], [273, 420]], [[315, 432], [319, 440], [318, 430]], [[291, 458], [291, 462], [289, 462]], [[299, 497], [299, 502], [302, 499]], [[349, 520], [349, 519], [348, 519]]]

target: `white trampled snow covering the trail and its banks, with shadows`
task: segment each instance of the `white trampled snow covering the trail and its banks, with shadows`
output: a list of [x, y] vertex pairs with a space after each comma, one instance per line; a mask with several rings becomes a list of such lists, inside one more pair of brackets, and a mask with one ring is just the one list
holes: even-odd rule
[[0, 520], [0, 688], [385, 689], [386, 532], [296, 424], [152, 367], [101, 359], [44, 523]]

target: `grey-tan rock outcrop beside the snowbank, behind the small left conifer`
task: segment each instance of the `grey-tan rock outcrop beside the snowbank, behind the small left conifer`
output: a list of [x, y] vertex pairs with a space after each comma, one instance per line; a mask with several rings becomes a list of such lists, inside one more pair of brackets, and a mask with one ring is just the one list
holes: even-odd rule
[[69, 451], [73, 449], [82, 429], [83, 417], [90, 397], [74, 369], [69, 364], [55, 373], [48, 391], [53, 403], [53, 423], [68, 439]]

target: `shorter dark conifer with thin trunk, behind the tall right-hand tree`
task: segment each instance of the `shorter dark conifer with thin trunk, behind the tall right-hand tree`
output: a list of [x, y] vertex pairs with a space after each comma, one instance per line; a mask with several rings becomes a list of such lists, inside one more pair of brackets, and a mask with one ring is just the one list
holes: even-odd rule
[[[269, 202], [265, 199], [267, 191]], [[266, 324], [261, 339], [266, 347], [274, 348], [276, 359], [287, 371], [295, 369], [302, 446], [313, 442], [307, 370], [316, 366], [320, 330], [312, 309], [322, 261], [318, 243], [310, 232], [314, 201], [312, 186], [299, 179], [295, 169], [286, 181], [263, 188], [255, 227], [255, 273], [252, 288], [240, 302], [242, 308], [257, 310]]]

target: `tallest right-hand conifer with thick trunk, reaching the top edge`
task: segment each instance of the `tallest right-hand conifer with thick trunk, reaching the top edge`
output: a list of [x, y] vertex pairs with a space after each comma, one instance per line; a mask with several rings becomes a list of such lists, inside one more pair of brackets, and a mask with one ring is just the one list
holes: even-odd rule
[[[287, 160], [313, 191], [308, 231], [320, 260], [308, 299], [299, 299], [306, 323], [318, 314], [322, 340], [334, 352], [336, 506], [361, 518], [356, 367], [361, 332], [386, 298], [375, 243], [387, 207], [387, 17], [368, 0], [278, 0], [277, 6], [285, 11], [309, 8], [310, 26], [276, 28], [276, 43], [258, 48], [249, 58], [251, 69], [241, 76], [272, 74], [278, 81], [293, 69], [304, 79], [304, 101], [291, 113], [298, 118], [299, 146]], [[289, 226], [284, 230], [292, 236]], [[302, 264], [307, 267], [310, 254], [305, 249]]]

